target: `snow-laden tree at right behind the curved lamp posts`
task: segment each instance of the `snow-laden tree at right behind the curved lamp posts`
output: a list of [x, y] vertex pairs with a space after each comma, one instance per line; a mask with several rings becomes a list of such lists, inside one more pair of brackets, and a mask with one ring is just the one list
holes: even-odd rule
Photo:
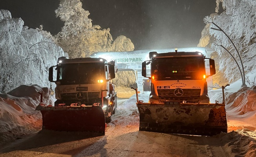
[[256, 1], [216, 0], [216, 12], [219, 10], [220, 2], [224, 11], [220, 15], [212, 14], [205, 17], [204, 20], [208, 23], [205, 29], [208, 31], [209, 36], [206, 32], [204, 35], [202, 34], [198, 46], [208, 45], [217, 52], [218, 55], [215, 55], [215, 59], [218, 62], [219, 70], [223, 71], [229, 82], [232, 82], [241, 78], [240, 71], [234, 59], [223, 47], [234, 56], [241, 68], [242, 65], [238, 53], [223, 32], [210, 28], [217, 28], [214, 26], [216, 24], [223, 29], [236, 46], [241, 56], [245, 73], [251, 71], [256, 68]]

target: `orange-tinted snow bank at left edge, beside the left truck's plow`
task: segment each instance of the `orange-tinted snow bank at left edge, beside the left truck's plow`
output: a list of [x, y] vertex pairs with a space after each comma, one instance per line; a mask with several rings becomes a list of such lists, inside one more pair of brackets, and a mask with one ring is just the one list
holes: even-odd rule
[[49, 102], [50, 90], [38, 85], [22, 85], [7, 94], [0, 93], [0, 144], [41, 129], [42, 115], [35, 111], [43, 93]]

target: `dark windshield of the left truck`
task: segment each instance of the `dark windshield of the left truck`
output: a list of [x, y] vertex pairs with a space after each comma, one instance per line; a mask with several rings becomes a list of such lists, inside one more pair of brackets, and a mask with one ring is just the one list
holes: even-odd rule
[[57, 69], [57, 81], [61, 84], [95, 84], [106, 80], [102, 63], [62, 64]]

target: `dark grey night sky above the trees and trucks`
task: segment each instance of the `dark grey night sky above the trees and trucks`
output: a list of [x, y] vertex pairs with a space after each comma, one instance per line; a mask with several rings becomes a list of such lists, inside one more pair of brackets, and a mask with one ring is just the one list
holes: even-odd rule
[[[110, 28], [113, 39], [130, 38], [139, 49], [196, 47], [205, 27], [203, 18], [215, 13], [216, 0], [82, 0], [93, 25]], [[0, 0], [13, 18], [29, 28], [55, 35], [64, 25], [55, 16], [59, 0]]]

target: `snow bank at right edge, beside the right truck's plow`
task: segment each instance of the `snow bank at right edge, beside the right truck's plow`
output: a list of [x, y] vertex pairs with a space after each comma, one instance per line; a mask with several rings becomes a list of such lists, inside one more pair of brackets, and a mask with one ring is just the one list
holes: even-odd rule
[[[228, 119], [236, 117], [252, 120], [256, 126], [256, 69], [247, 73], [247, 87], [241, 87], [241, 79], [230, 84], [224, 89], [225, 104]], [[223, 102], [222, 89], [211, 90], [208, 92], [210, 102], [218, 100]]]

